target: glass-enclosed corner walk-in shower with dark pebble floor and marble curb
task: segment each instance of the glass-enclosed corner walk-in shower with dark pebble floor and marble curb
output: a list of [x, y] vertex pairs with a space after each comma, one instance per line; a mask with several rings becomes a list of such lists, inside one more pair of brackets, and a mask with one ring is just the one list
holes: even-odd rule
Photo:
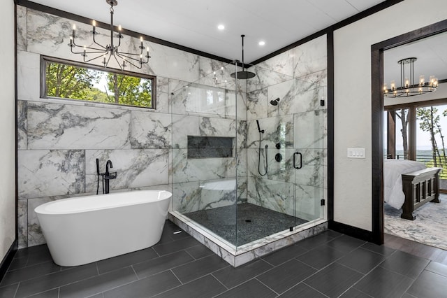
[[210, 65], [196, 82], [170, 82], [170, 220], [233, 266], [326, 229], [325, 111], [305, 102], [321, 85], [238, 71]]

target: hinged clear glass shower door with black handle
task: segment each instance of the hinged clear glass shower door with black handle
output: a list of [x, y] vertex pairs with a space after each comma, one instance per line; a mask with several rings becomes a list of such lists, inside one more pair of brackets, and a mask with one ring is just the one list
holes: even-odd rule
[[[294, 114], [295, 216], [310, 222], [324, 218], [327, 173], [327, 87], [296, 80]], [[324, 201], [322, 201], [324, 199]]]

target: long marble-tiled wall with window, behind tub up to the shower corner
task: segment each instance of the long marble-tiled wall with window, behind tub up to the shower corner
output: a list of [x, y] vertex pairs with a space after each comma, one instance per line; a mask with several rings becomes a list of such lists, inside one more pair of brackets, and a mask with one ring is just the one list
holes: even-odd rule
[[[235, 201], [231, 181], [235, 180], [237, 163], [245, 164], [246, 159], [186, 159], [188, 134], [238, 134], [234, 146], [246, 147], [246, 90], [237, 90], [242, 100], [236, 103], [234, 83], [225, 82], [235, 66], [146, 42], [152, 56], [149, 64], [131, 71], [157, 77], [156, 110], [43, 99], [41, 55], [80, 61], [67, 45], [72, 24], [62, 17], [17, 6], [20, 247], [45, 243], [34, 213], [36, 206], [96, 194], [96, 158], [101, 171], [105, 171], [108, 159], [113, 163], [112, 171], [117, 171], [117, 179], [110, 181], [111, 192], [169, 190], [174, 194], [173, 206], [180, 210], [196, 208], [189, 206], [214, 208]], [[91, 26], [75, 24], [79, 42], [88, 43]], [[108, 41], [107, 30], [99, 30], [99, 36]], [[139, 40], [125, 36], [122, 43], [132, 49]], [[216, 99], [220, 100], [207, 103], [207, 92], [219, 95]], [[236, 112], [236, 107], [243, 113]], [[244, 187], [245, 167], [239, 171], [238, 186]], [[225, 187], [210, 187], [212, 181], [223, 178], [229, 181]], [[100, 192], [101, 188], [100, 183]]]

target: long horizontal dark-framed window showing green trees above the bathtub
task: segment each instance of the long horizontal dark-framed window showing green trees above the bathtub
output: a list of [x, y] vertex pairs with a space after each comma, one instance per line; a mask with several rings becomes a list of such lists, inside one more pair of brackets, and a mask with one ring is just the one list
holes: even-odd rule
[[156, 77], [42, 57], [41, 96], [155, 108]]

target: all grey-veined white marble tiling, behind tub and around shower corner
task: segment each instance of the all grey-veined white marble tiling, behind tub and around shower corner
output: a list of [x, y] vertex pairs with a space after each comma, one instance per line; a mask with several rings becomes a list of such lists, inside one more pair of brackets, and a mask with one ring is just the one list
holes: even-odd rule
[[[79, 42], [89, 43], [89, 24], [75, 24]], [[41, 55], [80, 61], [67, 46], [72, 25], [17, 6], [20, 247], [45, 241], [36, 206], [96, 193], [96, 158], [102, 171], [113, 162], [111, 191], [169, 190], [171, 208], [182, 213], [249, 201], [302, 218], [319, 215], [314, 198], [325, 195], [327, 171], [327, 113], [319, 105], [327, 94], [325, 36], [254, 66], [256, 77], [237, 84], [234, 65], [147, 42], [149, 64], [130, 70], [157, 77], [152, 110], [40, 97]], [[139, 44], [129, 36], [122, 42]], [[265, 129], [261, 146], [268, 145], [266, 176], [258, 173], [256, 120]], [[234, 156], [187, 159], [188, 135], [233, 137]]]

